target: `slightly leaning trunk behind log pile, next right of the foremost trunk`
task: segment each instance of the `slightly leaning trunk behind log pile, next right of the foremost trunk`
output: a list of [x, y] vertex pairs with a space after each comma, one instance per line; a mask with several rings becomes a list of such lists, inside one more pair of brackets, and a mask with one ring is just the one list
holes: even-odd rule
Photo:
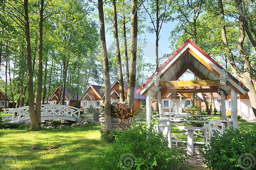
[[114, 36], [115, 36], [115, 53], [117, 55], [117, 65], [118, 65], [118, 79], [119, 79], [119, 100], [120, 102], [125, 101], [125, 90], [123, 89], [123, 73], [122, 73], [122, 63], [121, 63], [121, 54], [119, 48], [119, 39], [118, 39], [118, 28], [117, 28], [117, 8], [115, 6], [115, 0], [112, 0], [113, 4], [113, 13], [114, 13]]

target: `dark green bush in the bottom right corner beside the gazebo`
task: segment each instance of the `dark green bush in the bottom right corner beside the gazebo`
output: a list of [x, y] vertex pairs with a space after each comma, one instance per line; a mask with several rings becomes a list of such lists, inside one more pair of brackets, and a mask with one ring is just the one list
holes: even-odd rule
[[[210, 169], [256, 169], [256, 129], [226, 129], [210, 139], [210, 148], [202, 152]], [[207, 148], [206, 148], [207, 149]]]

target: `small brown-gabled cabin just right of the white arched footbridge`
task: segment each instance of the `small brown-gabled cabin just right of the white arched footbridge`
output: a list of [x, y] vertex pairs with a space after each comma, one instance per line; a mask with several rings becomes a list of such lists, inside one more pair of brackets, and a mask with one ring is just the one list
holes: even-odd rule
[[[80, 97], [81, 109], [85, 111], [86, 107], [92, 105], [96, 109], [100, 109], [102, 103], [102, 96], [104, 96], [104, 86], [90, 84], [84, 92], [84, 96]], [[102, 90], [102, 92], [101, 92]]]

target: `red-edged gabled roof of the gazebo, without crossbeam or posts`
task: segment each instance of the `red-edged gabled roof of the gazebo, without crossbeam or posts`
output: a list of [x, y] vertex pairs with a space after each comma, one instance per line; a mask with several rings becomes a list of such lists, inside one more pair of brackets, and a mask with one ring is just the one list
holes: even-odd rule
[[[187, 70], [190, 70], [201, 80], [220, 80], [221, 67], [216, 61], [214, 61], [210, 56], [207, 55], [203, 50], [197, 47], [196, 44], [187, 40], [183, 43], [167, 60], [161, 67], [155, 72], [159, 74], [160, 82], [167, 81], [177, 81], [177, 79]], [[154, 74], [144, 84], [137, 90], [137, 93], [145, 95], [148, 90], [151, 90], [152, 96], [155, 96], [159, 90], [163, 89], [163, 86], [155, 86]], [[184, 81], [185, 82], [185, 81]], [[191, 81], [192, 82], [192, 81]], [[206, 81], [205, 81], [206, 82]], [[209, 82], [209, 81], [208, 81]], [[220, 84], [220, 82], [217, 82]], [[184, 85], [191, 86], [191, 85]], [[170, 88], [167, 86], [169, 91], [175, 91], [175, 85]], [[226, 86], [217, 85], [210, 86], [212, 92], [218, 92], [218, 88], [223, 90], [226, 94], [230, 94], [231, 89], [234, 89], [238, 94], [245, 95], [249, 92], [240, 81], [238, 81], [232, 74], [228, 73], [228, 81]], [[179, 90], [180, 93], [181, 90]], [[202, 92], [207, 93], [209, 90], [202, 89]], [[185, 92], [184, 93], [188, 93]], [[190, 92], [191, 93], [191, 92]]]

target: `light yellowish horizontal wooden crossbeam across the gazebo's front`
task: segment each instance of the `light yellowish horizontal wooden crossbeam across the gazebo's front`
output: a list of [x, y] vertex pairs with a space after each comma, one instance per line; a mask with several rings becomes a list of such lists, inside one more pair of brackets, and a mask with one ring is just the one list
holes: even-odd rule
[[160, 81], [159, 87], [222, 86], [220, 80]]

